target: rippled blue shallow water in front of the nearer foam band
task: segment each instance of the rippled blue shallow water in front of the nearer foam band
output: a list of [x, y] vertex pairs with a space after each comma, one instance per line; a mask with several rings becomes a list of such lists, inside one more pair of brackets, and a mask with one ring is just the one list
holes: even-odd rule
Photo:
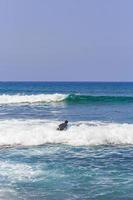
[[133, 196], [132, 146], [48, 144], [2, 148], [0, 157], [3, 199], [132, 199]]

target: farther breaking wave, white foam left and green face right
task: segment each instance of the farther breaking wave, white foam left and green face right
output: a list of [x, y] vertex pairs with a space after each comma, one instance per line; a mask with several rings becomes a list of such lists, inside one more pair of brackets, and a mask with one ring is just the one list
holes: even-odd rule
[[133, 96], [91, 96], [80, 94], [0, 95], [0, 104], [17, 103], [133, 103]]

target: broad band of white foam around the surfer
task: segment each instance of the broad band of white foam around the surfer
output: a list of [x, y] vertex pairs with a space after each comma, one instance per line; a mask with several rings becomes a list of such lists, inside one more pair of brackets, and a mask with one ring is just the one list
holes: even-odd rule
[[76, 122], [69, 123], [66, 131], [57, 131], [59, 123], [43, 120], [1, 120], [0, 145], [133, 144], [133, 124]]

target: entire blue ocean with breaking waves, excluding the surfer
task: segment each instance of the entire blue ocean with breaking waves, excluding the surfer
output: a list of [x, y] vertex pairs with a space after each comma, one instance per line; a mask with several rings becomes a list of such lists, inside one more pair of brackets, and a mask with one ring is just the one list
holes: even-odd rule
[[0, 199], [133, 200], [133, 83], [0, 82]]

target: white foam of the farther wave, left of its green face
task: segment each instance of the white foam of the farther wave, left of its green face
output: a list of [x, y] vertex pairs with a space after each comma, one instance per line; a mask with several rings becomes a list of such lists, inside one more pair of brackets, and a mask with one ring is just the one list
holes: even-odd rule
[[38, 95], [0, 95], [0, 104], [12, 103], [50, 103], [63, 101], [68, 95], [66, 94], [38, 94]]

